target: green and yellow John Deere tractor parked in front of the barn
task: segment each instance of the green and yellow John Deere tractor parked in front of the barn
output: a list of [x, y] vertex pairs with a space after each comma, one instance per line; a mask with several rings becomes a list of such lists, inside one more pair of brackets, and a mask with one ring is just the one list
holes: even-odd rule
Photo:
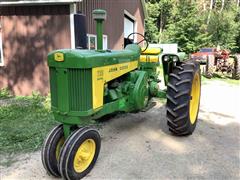
[[[184, 61], [178, 54], [162, 54], [160, 59], [160, 49], [148, 45], [142, 49], [139, 43], [119, 51], [103, 50], [106, 12], [94, 10], [93, 18], [97, 22], [97, 50], [61, 49], [48, 55], [52, 112], [60, 125], [43, 144], [42, 162], [50, 175], [64, 179], [84, 177], [97, 161], [100, 135], [93, 127], [83, 126], [92, 120], [116, 112], [136, 113], [147, 109], [152, 97], [165, 96], [172, 134], [192, 134], [197, 123], [199, 64]], [[166, 91], [159, 88], [160, 64]]]

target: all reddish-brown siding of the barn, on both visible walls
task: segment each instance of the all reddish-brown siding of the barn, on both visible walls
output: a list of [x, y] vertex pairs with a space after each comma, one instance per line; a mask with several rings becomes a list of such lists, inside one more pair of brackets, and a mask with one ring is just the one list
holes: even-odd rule
[[[137, 20], [137, 32], [144, 33], [141, 0], [83, 0], [77, 3], [77, 10], [87, 17], [89, 34], [96, 34], [92, 20], [92, 11], [96, 8], [108, 13], [104, 23], [108, 48], [123, 48], [124, 10]], [[47, 54], [71, 47], [69, 13], [69, 5], [0, 7], [4, 53], [0, 88], [8, 87], [16, 95], [49, 92]]]

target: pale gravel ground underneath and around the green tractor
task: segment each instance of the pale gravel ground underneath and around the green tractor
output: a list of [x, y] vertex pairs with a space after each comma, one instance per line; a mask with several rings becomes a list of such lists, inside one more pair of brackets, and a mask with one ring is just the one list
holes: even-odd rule
[[[193, 135], [172, 136], [165, 106], [118, 115], [100, 129], [102, 149], [85, 179], [240, 179], [240, 86], [212, 81], [202, 86]], [[55, 179], [40, 152], [1, 169], [0, 179]]]

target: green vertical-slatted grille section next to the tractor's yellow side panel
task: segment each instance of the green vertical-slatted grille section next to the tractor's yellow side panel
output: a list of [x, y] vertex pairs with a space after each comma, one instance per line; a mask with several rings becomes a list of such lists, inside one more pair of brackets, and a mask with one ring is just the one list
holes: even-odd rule
[[92, 108], [92, 70], [68, 70], [69, 106], [71, 111]]

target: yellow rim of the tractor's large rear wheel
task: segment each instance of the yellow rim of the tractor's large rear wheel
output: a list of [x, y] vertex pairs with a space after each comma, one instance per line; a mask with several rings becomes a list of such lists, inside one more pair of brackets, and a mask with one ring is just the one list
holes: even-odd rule
[[199, 73], [194, 75], [192, 81], [192, 90], [191, 90], [191, 101], [190, 101], [190, 121], [192, 124], [195, 123], [198, 114], [200, 101], [200, 76]]

